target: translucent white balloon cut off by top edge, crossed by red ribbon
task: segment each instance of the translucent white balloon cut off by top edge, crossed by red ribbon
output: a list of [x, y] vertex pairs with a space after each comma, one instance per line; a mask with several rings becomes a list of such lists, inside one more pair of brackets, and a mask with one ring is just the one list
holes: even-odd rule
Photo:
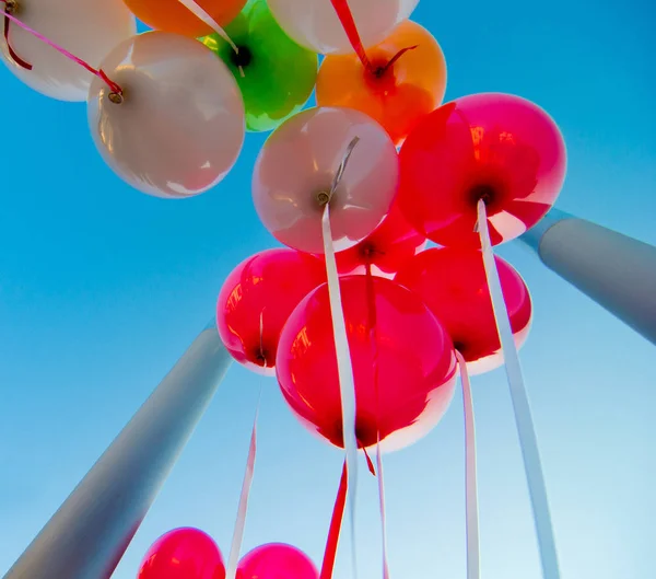
[[[273, 16], [294, 40], [324, 55], [353, 48], [330, 0], [268, 0]], [[364, 47], [383, 42], [407, 20], [419, 0], [349, 0]]]

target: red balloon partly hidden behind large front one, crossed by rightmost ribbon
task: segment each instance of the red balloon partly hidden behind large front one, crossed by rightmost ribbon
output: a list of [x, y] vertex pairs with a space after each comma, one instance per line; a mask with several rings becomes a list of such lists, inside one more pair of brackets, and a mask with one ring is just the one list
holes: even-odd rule
[[[494, 259], [515, 344], [520, 347], [530, 329], [530, 294], [519, 274], [507, 262], [496, 256]], [[503, 364], [480, 250], [427, 250], [408, 262], [395, 280], [420, 296], [437, 316], [468, 362], [470, 373], [487, 372]]]

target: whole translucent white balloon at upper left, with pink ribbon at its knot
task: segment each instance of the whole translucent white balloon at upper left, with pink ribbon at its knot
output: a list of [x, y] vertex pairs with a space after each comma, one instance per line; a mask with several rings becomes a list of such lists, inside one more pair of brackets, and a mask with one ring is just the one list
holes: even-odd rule
[[189, 197], [216, 185], [244, 142], [242, 93], [220, 58], [194, 38], [148, 32], [102, 63], [124, 90], [116, 104], [95, 79], [89, 126], [107, 164], [134, 188]]

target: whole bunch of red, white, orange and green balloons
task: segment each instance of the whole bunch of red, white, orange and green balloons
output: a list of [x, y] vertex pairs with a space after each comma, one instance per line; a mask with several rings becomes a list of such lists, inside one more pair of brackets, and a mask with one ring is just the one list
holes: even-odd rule
[[[286, 248], [234, 269], [218, 328], [347, 456], [430, 432], [458, 363], [464, 374], [504, 362], [506, 311], [524, 344], [528, 289], [491, 247], [535, 225], [565, 176], [562, 136], [535, 104], [491, 93], [443, 104], [445, 58], [409, 20], [418, 2], [0, 0], [5, 65], [47, 96], [86, 101], [99, 154], [138, 190], [207, 192], [247, 130], [272, 130], [251, 192]], [[137, 34], [137, 19], [153, 30]], [[313, 91], [317, 106], [304, 109]], [[290, 549], [256, 549], [237, 577], [273, 577], [266, 561]], [[298, 565], [276, 577], [316, 576]], [[178, 530], [153, 545], [140, 578], [222, 574], [211, 539]]]

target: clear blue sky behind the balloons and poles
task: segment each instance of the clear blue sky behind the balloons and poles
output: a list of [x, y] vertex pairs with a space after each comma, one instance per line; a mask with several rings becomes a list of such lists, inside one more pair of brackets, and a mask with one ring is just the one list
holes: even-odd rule
[[[431, 2], [415, 20], [446, 55], [447, 99], [516, 93], [569, 148], [558, 207], [656, 243], [656, 39], [648, 0]], [[150, 198], [104, 165], [84, 105], [49, 101], [4, 68], [0, 169], [0, 574], [212, 315], [222, 279], [273, 245], [253, 208], [248, 135], [229, 177], [198, 198]], [[522, 351], [563, 579], [653, 577], [654, 347], [546, 270], [525, 277]], [[136, 577], [165, 531], [196, 525], [224, 553], [263, 384], [245, 548], [282, 541], [320, 563], [339, 452], [290, 415], [276, 383], [234, 367], [115, 577]], [[502, 370], [477, 377], [482, 577], [538, 579]], [[465, 577], [461, 398], [424, 441], [386, 459], [391, 577]], [[375, 482], [360, 487], [361, 579], [380, 577]], [[348, 548], [336, 578], [349, 577]]]

